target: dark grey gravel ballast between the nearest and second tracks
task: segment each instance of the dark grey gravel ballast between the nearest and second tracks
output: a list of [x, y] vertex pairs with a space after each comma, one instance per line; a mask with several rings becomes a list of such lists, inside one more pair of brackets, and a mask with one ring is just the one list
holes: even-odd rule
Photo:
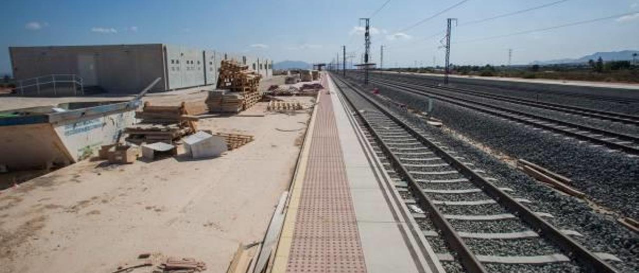
[[[413, 108], [426, 110], [426, 101], [423, 97], [390, 91], [383, 87], [378, 88], [381, 94], [393, 100], [406, 103]], [[427, 126], [421, 119], [408, 114], [393, 103], [381, 100], [379, 97], [376, 98], [401, 114], [404, 119], [411, 121], [415, 128], [426, 131], [437, 141], [452, 147], [454, 151], [459, 152], [459, 156], [468, 159], [477, 168], [488, 170], [489, 175], [497, 178], [500, 185], [504, 184], [517, 189], [513, 195], [528, 198], [534, 202], [532, 206], [535, 208], [545, 208], [544, 212], [555, 216], [555, 218], [549, 219], [554, 225], [562, 229], [580, 232], [583, 238], [575, 237], [574, 239], [589, 249], [612, 253], [619, 257], [624, 262], [615, 263], [615, 266], [622, 272], [639, 270], [639, 239], [637, 235], [620, 226], [612, 217], [597, 214], [585, 203], [535, 182], [527, 175], [498, 161], [493, 156], [443, 133], [441, 129]], [[579, 145], [576, 141], [564, 140], [562, 136], [541, 133], [439, 101], [435, 103], [434, 114], [450, 128], [477, 142], [505, 154], [514, 155], [516, 158], [526, 158], [546, 166], [546, 168], [553, 166], [552, 169], [555, 172], [562, 170], [560, 173], [569, 175], [574, 181], [574, 186], [578, 186], [577, 188], [585, 191], [588, 195], [594, 196], [597, 202], [605, 201], [605, 205], [629, 215], [636, 214], [635, 207], [638, 202], [637, 196], [633, 195], [638, 192], [636, 186], [638, 179], [636, 178], [639, 177], [637, 168], [639, 164], [637, 159], [627, 158], [619, 152], [610, 153], [603, 149]], [[592, 170], [592, 166], [597, 166], [597, 170]], [[455, 221], [451, 221], [451, 223], [456, 225]], [[526, 271], [522, 270], [521, 272]], [[539, 271], [533, 269], [532, 272]], [[567, 270], [567, 272], [572, 272], [572, 270]]]

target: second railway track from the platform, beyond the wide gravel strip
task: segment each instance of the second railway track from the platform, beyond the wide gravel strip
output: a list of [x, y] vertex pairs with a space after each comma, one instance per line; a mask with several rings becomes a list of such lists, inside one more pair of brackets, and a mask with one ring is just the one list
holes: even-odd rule
[[489, 103], [482, 103], [466, 98], [459, 98], [457, 96], [443, 94], [442, 92], [437, 92], [436, 89], [423, 87], [420, 85], [402, 84], [389, 80], [380, 80], [378, 78], [371, 78], [370, 81], [373, 84], [378, 84], [380, 86], [394, 89], [396, 91], [403, 91], [417, 94], [419, 96], [432, 97], [436, 100], [441, 100], [453, 105], [458, 105], [460, 107], [477, 110], [485, 114], [500, 117], [502, 119], [520, 122], [521, 124], [527, 124], [529, 126], [544, 129], [546, 131], [553, 131], [555, 133], [560, 133], [580, 140], [585, 140], [587, 142], [590, 142], [591, 144], [608, 147], [609, 149], [613, 149], [613, 151], [623, 151], [626, 152], [630, 157], [636, 157], [639, 155], [638, 136], [616, 133], [605, 129], [593, 128], [590, 126], [575, 124], [573, 122], [561, 121], [559, 119], [521, 112], [519, 110], [513, 110], [511, 108], [491, 105]]

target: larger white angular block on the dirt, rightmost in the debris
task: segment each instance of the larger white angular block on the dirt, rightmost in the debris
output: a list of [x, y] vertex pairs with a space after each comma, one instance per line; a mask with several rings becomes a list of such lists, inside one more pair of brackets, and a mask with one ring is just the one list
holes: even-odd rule
[[222, 152], [228, 150], [226, 138], [217, 135], [213, 136], [204, 131], [187, 136], [183, 141], [184, 149], [191, 158], [220, 156]]

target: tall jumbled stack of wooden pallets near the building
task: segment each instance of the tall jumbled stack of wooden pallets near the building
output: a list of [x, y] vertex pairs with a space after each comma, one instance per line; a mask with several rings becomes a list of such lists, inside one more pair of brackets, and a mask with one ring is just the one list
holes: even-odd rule
[[[249, 71], [249, 66], [235, 61], [224, 60], [222, 61], [222, 66], [220, 66], [217, 87], [237, 94], [238, 97], [236, 98], [242, 100], [241, 110], [246, 110], [258, 103], [262, 98], [262, 94], [258, 90], [260, 79], [261, 75]], [[233, 100], [229, 99], [229, 101]], [[221, 103], [224, 103], [224, 100]]]

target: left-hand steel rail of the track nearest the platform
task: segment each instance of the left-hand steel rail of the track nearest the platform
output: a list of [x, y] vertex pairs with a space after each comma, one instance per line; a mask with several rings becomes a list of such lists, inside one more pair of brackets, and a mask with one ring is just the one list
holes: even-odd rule
[[[335, 77], [334, 74], [332, 75], [333, 75], [332, 78], [337, 78]], [[337, 78], [337, 79], [339, 79], [341, 82], [343, 82], [344, 84], [350, 87], [350, 85], [344, 82], [341, 78]], [[346, 101], [348, 101], [351, 107], [353, 109], [357, 109], [353, 101], [351, 101], [351, 99], [348, 98], [348, 96], [346, 96], [346, 92], [344, 92], [339, 85], [335, 84], [335, 86], [338, 89], [340, 89], [340, 91], [344, 94], [344, 98], [346, 99]], [[353, 91], [356, 91], [353, 87], [350, 87], [350, 88], [353, 89]], [[358, 117], [360, 117], [360, 119], [364, 123], [364, 126], [368, 129], [371, 135], [376, 140], [378, 140], [378, 144], [380, 145], [380, 148], [390, 159], [390, 162], [392, 163], [392, 165], [396, 167], [396, 170], [399, 170], [399, 174], [407, 180], [408, 187], [412, 190], [413, 194], [415, 195], [415, 199], [417, 203], [419, 203], [422, 207], [426, 208], [429, 216], [431, 216], [431, 218], [433, 219], [433, 224], [435, 224], [435, 226], [437, 226], [437, 228], [439, 228], [442, 231], [443, 236], [447, 239], [447, 242], [450, 248], [454, 249], [454, 251], [458, 253], [459, 261], [464, 266], [464, 268], [471, 273], [488, 272], [484, 268], [484, 265], [482, 265], [481, 262], [479, 262], [479, 260], [477, 259], [477, 257], [472, 253], [472, 251], [470, 251], [470, 248], [466, 246], [466, 243], [464, 242], [464, 240], [461, 239], [459, 234], [454, 230], [454, 228], [452, 228], [449, 221], [443, 216], [442, 212], [440, 212], [440, 210], [437, 209], [437, 207], [435, 206], [435, 203], [433, 203], [433, 200], [431, 200], [431, 198], [429, 198], [426, 195], [426, 193], [422, 191], [417, 181], [415, 181], [415, 178], [413, 177], [413, 175], [411, 175], [408, 172], [408, 169], [406, 169], [406, 167], [401, 164], [401, 161], [399, 161], [399, 158], [397, 158], [397, 156], [395, 156], [395, 154], [393, 154], [392, 151], [390, 151], [390, 147], [381, 140], [381, 136], [377, 133], [376, 129], [374, 129], [373, 126], [364, 118], [361, 112], [355, 111], [355, 114], [358, 115]]]

